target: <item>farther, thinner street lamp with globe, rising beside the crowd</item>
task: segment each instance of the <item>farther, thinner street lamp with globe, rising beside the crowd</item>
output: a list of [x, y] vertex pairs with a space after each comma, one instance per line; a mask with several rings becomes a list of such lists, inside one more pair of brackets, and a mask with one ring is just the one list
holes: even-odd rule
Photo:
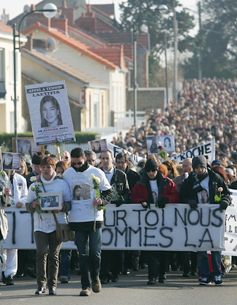
[[[145, 9], [141, 12], [137, 18], [133, 21], [132, 29], [133, 29], [133, 107], [134, 107], [134, 126], [136, 127], [136, 117], [137, 117], [137, 35], [136, 35], [136, 23], [139, 21], [140, 17], [149, 11], [151, 8]], [[168, 7], [164, 4], [158, 6], [158, 11], [161, 14], [166, 13]]]

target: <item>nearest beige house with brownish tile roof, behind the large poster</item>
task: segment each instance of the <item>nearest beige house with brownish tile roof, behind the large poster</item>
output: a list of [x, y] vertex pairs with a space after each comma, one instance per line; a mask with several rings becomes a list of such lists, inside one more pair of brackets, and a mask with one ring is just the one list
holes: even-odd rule
[[[66, 83], [74, 130], [81, 131], [94, 125], [107, 127], [107, 91], [109, 86], [74, 66], [52, 57], [51, 52], [46, 51], [46, 45], [34, 44], [33, 35], [28, 37], [27, 45], [22, 48], [23, 86], [62, 79]], [[98, 104], [97, 111], [99, 110], [98, 122], [94, 122], [96, 116], [92, 101], [95, 98]], [[30, 128], [30, 115], [25, 96], [23, 104], [23, 116]]]

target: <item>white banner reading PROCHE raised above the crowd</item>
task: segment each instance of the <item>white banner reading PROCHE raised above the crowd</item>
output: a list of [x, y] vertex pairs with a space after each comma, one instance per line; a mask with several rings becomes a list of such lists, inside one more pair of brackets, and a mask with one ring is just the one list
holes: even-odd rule
[[207, 160], [212, 162], [215, 160], [215, 139], [206, 142], [202, 145], [193, 147], [191, 149], [186, 150], [185, 152], [182, 152], [178, 156], [171, 157], [171, 160], [177, 160], [178, 162], [182, 162], [186, 158], [193, 158], [196, 156], [204, 156]]

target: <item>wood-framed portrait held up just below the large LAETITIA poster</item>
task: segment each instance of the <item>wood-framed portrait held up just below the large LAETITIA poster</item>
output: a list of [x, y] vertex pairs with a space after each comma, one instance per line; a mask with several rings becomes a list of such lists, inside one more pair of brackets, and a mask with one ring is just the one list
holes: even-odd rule
[[13, 152], [18, 152], [26, 160], [32, 158], [35, 152], [41, 151], [44, 153], [44, 145], [36, 145], [34, 138], [13, 138], [12, 139]]

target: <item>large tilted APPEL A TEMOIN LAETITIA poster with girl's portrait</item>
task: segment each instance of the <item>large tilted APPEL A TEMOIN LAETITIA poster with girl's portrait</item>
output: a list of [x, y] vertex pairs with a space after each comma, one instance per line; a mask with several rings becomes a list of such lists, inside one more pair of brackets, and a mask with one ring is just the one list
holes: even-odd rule
[[25, 86], [36, 145], [75, 142], [65, 81]]

